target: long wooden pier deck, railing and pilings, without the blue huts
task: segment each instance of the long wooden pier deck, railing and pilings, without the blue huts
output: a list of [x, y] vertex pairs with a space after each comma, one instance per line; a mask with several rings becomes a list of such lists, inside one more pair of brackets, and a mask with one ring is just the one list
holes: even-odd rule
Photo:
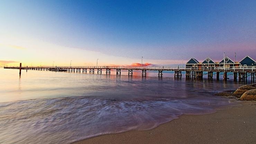
[[185, 72], [186, 78], [203, 78], [207, 75], [209, 79], [216, 76], [219, 79], [220, 75], [223, 75], [224, 79], [233, 75], [234, 79], [247, 80], [248, 77], [252, 81], [256, 79], [256, 66], [235, 66], [235, 67], [116, 67], [116, 66], [42, 66], [42, 67], [4, 67], [6, 69], [23, 69], [23, 70], [44, 70], [44, 71], [68, 71], [76, 73], [102, 73], [102, 70], [106, 70], [106, 74], [110, 74], [111, 70], [116, 70], [116, 74], [120, 75], [122, 70], [128, 70], [128, 75], [133, 74], [133, 70], [141, 71], [142, 76], [147, 75], [147, 71], [158, 71], [158, 76], [163, 76], [163, 71], [174, 71], [174, 77], [181, 78], [182, 72]]

